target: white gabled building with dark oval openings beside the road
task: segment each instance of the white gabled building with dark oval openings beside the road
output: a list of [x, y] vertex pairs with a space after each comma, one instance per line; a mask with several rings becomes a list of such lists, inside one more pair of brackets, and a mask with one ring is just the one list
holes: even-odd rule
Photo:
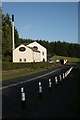
[[13, 62], [47, 61], [47, 49], [37, 42], [21, 44], [13, 50]]

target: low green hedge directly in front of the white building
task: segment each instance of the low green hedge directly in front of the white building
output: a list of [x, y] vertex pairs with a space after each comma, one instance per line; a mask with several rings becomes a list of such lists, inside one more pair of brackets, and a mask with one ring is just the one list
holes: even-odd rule
[[49, 62], [40, 62], [40, 63], [12, 63], [12, 62], [3, 62], [2, 70], [13, 70], [13, 69], [21, 69], [21, 68], [47, 68], [51, 66]]

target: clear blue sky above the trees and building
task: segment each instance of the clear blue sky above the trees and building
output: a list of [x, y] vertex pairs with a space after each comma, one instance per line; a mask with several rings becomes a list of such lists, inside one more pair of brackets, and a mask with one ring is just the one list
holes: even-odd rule
[[3, 14], [14, 14], [19, 37], [78, 43], [77, 2], [3, 2]]

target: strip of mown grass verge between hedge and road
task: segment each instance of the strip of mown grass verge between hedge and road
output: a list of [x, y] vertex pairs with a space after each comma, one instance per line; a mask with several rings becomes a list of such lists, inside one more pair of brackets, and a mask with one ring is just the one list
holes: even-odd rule
[[51, 69], [51, 68], [59, 68], [61, 67], [60, 64], [50, 64], [49, 66], [43, 66], [43, 67], [37, 67], [34, 69], [29, 69], [29, 68], [22, 68], [22, 69], [14, 69], [14, 70], [5, 70], [2, 72], [2, 80], [7, 80], [7, 79], [11, 79], [11, 78], [16, 78], [16, 77], [20, 77], [20, 76], [26, 76], [32, 73], [37, 73], [40, 71], [44, 71], [47, 69]]

